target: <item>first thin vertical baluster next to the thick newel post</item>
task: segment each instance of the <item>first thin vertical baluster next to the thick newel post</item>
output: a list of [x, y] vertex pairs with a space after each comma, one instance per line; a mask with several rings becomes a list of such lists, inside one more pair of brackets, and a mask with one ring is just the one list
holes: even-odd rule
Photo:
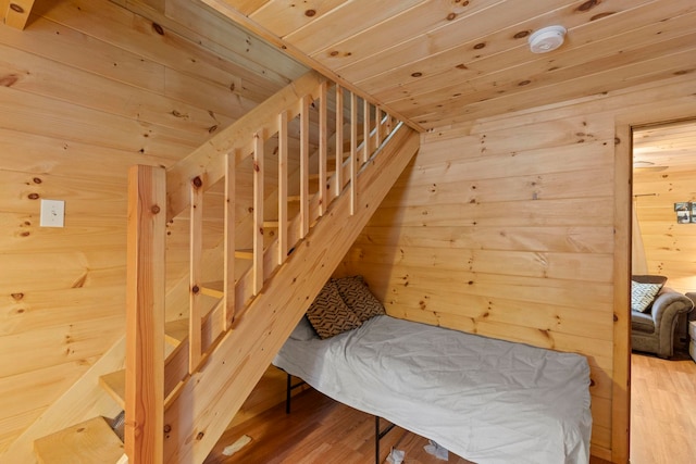
[[190, 185], [188, 372], [201, 360], [201, 275], [203, 255], [203, 185], [196, 177]]

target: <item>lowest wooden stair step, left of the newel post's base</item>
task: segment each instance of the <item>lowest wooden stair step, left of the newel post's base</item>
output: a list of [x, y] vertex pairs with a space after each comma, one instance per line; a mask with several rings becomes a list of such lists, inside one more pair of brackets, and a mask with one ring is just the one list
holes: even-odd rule
[[39, 438], [34, 451], [39, 464], [115, 464], [124, 454], [123, 443], [101, 416]]

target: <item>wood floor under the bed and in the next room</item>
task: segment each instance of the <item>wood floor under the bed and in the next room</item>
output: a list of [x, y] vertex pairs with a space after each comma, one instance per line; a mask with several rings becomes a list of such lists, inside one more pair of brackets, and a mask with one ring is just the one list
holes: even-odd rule
[[[696, 463], [696, 363], [679, 355], [666, 361], [632, 356], [631, 464]], [[232, 456], [222, 450], [241, 436], [251, 442]], [[391, 447], [406, 451], [403, 464], [443, 463], [427, 454], [427, 440], [395, 428], [382, 440], [382, 462]], [[374, 463], [374, 417], [310, 389], [229, 428], [206, 464]], [[448, 463], [470, 464], [449, 454]], [[593, 457], [591, 464], [605, 461]]]

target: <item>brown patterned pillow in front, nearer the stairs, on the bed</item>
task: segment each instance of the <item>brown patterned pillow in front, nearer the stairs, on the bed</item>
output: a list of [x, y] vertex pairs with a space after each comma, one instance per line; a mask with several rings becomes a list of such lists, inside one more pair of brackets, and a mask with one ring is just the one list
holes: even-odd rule
[[326, 339], [360, 327], [362, 322], [340, 298], [336, 285], [328, 280], [307, 310], [307, 318], [320, 338]]

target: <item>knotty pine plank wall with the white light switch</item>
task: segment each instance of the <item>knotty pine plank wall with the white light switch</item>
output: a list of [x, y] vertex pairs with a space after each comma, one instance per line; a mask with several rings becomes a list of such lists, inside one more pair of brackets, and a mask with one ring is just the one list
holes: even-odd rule
[[[215, 35], [200, 3], [167, 3], [162, 24], [59, 0], [37, 2], [23, 32], [0, 26], [0, 454], [123, 335], [127, 167], [171, 165], [306, 71]], [[40, 199], [65, 201], [64, 228], [39, 227]]]

